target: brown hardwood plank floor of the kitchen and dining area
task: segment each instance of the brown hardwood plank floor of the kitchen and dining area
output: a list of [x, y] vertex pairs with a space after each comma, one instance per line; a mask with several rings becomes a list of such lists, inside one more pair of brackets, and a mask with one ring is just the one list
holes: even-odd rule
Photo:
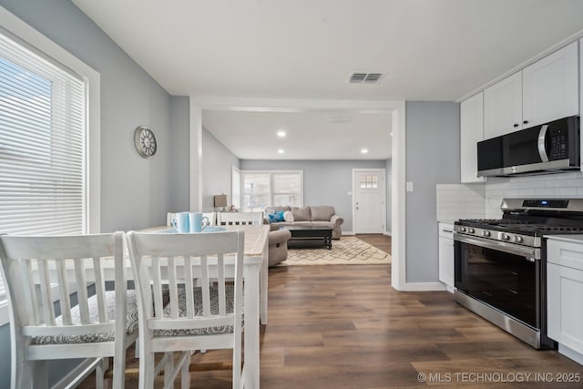
[[[389, 266], [276, 267], [269, 282], [262, 389], [583, 387], [583, 366], [532, 349], [449, 292], [395, 291]], [[230, 388], [229, 361], [229, 351], [195, 354], [190, 387]]]

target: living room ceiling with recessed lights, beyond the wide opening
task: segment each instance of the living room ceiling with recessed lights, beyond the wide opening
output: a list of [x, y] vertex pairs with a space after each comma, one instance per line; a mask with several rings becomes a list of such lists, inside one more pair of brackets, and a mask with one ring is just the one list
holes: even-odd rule
[[[240, 159], [391, 157], [390, 112], [348, 109], [293, 112], [205, 110], [202, 122], [205, 128], [213, 129], [212, 134], [223, 145], [230, 150], [238, 150]], [[285, 136], [279, 137], [278, 131], [283, 131]], [[355, 131], [358, 135], [354, 134]]]

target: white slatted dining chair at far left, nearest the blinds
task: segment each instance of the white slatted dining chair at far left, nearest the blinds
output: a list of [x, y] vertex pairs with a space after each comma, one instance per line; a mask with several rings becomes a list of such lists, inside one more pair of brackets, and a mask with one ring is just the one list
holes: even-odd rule
[[[127, 290], [124, 233], [0, 235], [10, 306], [11, 388], [47, 386], [46, 361], [96, 358], [97, 388], [114, 357], [113, 388], [125, 383], [126, 349], [138, 337], [138, 306]], [[103, 265], [115, 263], [115, 291]]]

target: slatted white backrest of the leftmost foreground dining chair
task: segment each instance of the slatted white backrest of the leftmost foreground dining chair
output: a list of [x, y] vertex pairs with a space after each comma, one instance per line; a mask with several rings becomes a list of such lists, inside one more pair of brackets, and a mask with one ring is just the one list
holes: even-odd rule
[[[15, 322], [22, 334], [50, 336], [115, 331], [115, 321], [107, 318], [102, 264], [115, 261], [116, 266], [123, 266], [122, 253], [123, 232], [58, 237], [0, 236], [3, 276]], [[124, 303], [125, 282], [125, 269], [117, 271], [116, 298]], [[97, 304], [97, 315], [91, 314], [88, 287], [95, 289], [92, 299]], [[78, 317], [73, 313], [76, 305]]]

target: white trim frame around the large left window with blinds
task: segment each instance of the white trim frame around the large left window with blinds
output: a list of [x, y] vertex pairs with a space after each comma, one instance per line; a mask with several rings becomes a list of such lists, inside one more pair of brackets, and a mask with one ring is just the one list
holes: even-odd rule
[[[32, 26], [27, 25], [0, 7], [0, 34], [6, 35], [21, 43], [28, 49], [36, 51], [59, 64], [61, 67], [68, 67], [84, 78], [86, 83], [86, 232], [101, 232], [101, 105], [100, 105], [100, 75], [79, 60], [76, 56], [58, 46], [55, 42], [36, 31]], [[0, 325], [9, 321], [8, 302], [3, 298], [0, 300]]]

